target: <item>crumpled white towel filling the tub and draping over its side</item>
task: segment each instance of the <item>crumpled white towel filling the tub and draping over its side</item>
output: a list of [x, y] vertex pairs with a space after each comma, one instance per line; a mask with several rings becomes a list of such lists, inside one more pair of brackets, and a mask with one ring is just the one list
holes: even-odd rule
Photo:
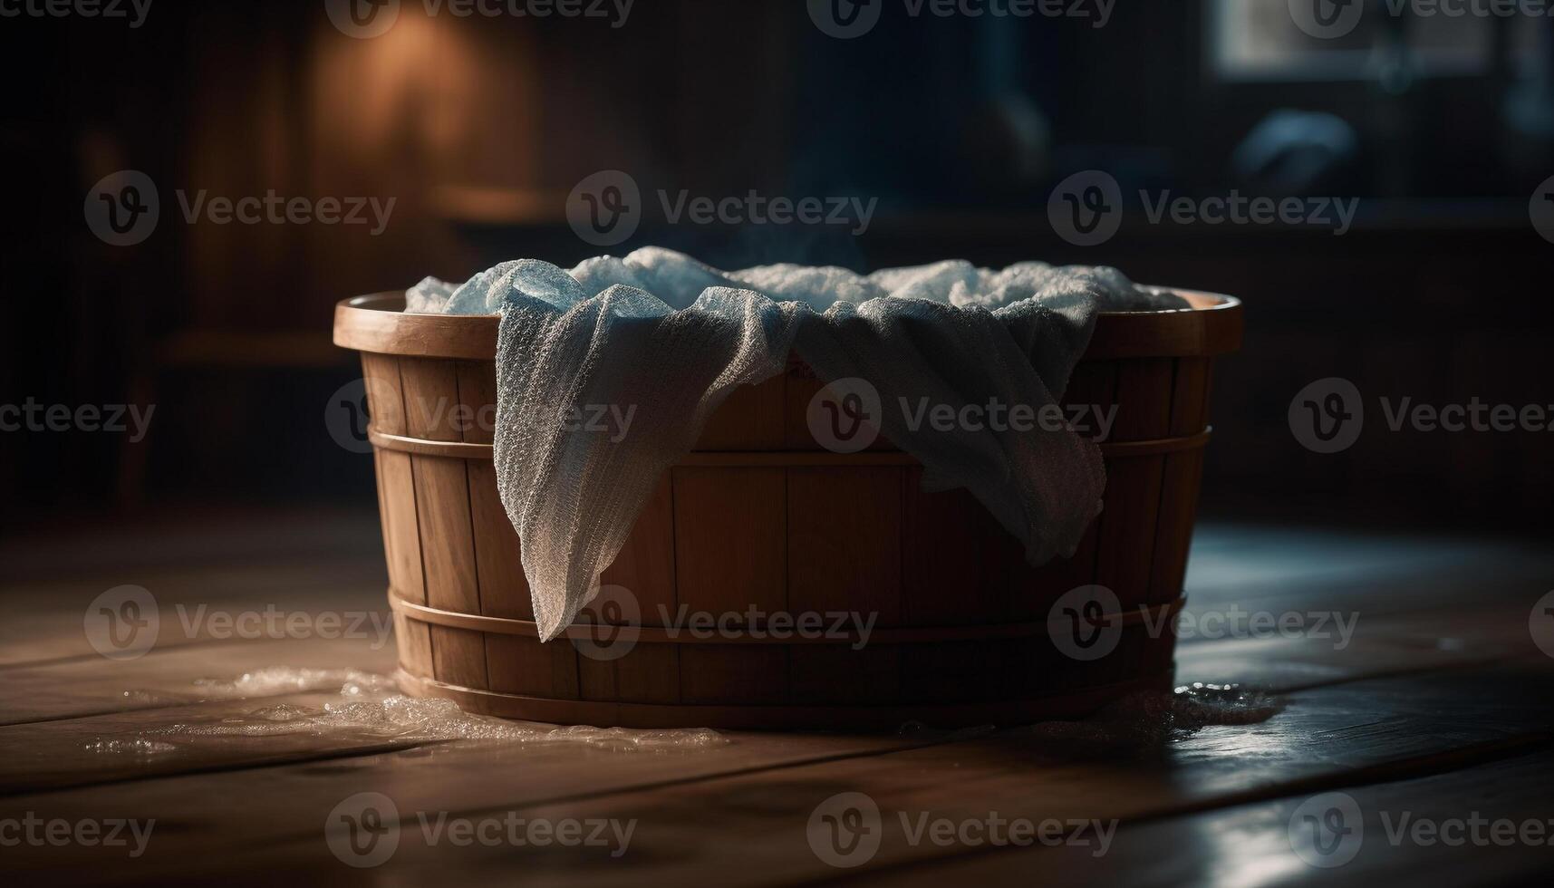
[[[570, 272], [507, 261], [458, 288], [427, 278], [407, 294], [407, 311], [502, 316], [497, 484], [545, 641], [597, 591], [707, 417], [735, 387], [782, 373], [789, 351], [821, 379], [872, 383], [880, 432], [923, 463], [925, 487], [970, 490], [1032, 565], [1071, 555], [1100, 512], [1094, 443], [1069, 429], [914, 431], [908, 417], [923, 398], [957, 414], [1055, 404], [1099, 311], [1178, 308], [1106, 267], [723, 272], [656, 247]], [[601, 429], [594, 406], [629, 425]]]

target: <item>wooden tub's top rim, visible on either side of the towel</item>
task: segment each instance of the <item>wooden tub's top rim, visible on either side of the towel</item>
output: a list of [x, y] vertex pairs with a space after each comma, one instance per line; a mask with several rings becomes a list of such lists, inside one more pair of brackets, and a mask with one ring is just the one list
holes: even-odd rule
[[[1242, 345], [1242, 300], [1218, 292], [1150, 286], [1192, 305], [1169, 311], [1105, 311], [1085, 359], [1228, 355]], [[496, 359], [496, 314], [416, 314], [404, 292], [375, 292], [334, 306], [334, 344], [375, 355]]]

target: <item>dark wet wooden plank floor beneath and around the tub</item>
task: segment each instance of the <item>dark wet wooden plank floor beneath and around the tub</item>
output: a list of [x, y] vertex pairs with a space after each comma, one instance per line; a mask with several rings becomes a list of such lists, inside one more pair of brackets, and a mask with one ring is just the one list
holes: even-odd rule
[[[295, 635], [224, 641], [208, 624], [185, 622], [200, 605], [224, 613], [269, 607], [308, 617], [381, 613], [376, 518], [357, 518], [329, 527], [298, 516], [292, 526], [260, 530], [244, 516], [211, 526], [106, 527], [101, 544], [85, 549], [48, 540], [0, 543], [8, 566], [0, 600], [16, 614], [0, 625], [0, 723], [9, 725], [0, 726], [0, 792], [16, 793], [0, 798], [0, 818], [159, 823], [146, 854], [131, 862], [106, 848], [23, 846], [6, 849], [5, 865], [51, 871], [62, 882], [261, 876], [508, 883], [522, 874], [536, 883], [632, 886], [895, 879], [929, 863], [929, 872], [953, 880], [1038, 874], [1057, 880], [1069, 869], [1085, 871], [1061, 863], [1074, 849], [1005, 855], [914, 846], [890, 821], [903, 810], [949, 818], [998, 810], [1119, 818], [1119, 844], [1105, 862], [1116, 866], [1105, 872], [1119, 880], [1153, 877], [1141, 872], [1139, 862], [1162, 846], [1192, 858], [1187, 869], [1167, 868], [1164, 876], [1305, 880], [1305, 872], [1277, 869], [1288, 863], [1277, 854], [1268, 871], [1256, 869], [1248, 862], [1260, 855], [1239, 855], [1223, 835], [1245, 835], [1248, 848], [1268, 849], [1279, 818], [1288, 820], [1301, 793], [1324, 787], [1355, 793], [1434, 787], [1420, 790], [1417, 804], [1472, 801], [1481, 796], [1470, 782], [1431, 781], [1489, 773], [1495, 765], [1475, 765], [1542, 748], [1554, 731], [1548, 715], [1554, 661], [1537, 653], [1528, 635], [1529, 608], [1554, 575], [1554, 555], [1542, 547], [1223, 524], [1197, 537], [1187, 617], [1240, 608], [1296, 614], [1302, 628], [1189, 633], [1179, 644], [1178, 680], [1280, 692], [1285, 709], [1265, 723], [1164, 740], [1150, 729], [1153, 722], [1120, 732], [1096, 723], [1057, 725], [937, 745], [928, 743], [940, 737], [923, 736], [735, 734], [723, 746], [659, 753], [468, 740], [421, 745], [371, 731], [207, 737], [145, 759], [87, 751], [99, 740], [137, 739], [180, 720], [322, 701], [287, 695], [194, 703], [202, 697], [197, 678], [233, 678], [269, 666], [390, 672], [392, 639], [387, 645]], [[246, 523], [249, 533], [235, 532]], [[171, 624], [168, 638], [131, 661], [103, 659], [84, 635], [87, 605], [120, 583], [151, 589]], [[1315, 622], [1332, 613], [1358, 621], [1346, 644], [1315, 631]], [[384, 751], [395, 745], [406, 748]], [[1489, 785], [1517, 788], [1517, 779], [1548, 785], [1545, 764]], [[334, 806], [364, 790], [390, 796], [404, 827], [388, 865], [357, 871], [329, 852], [322, 824]], [[807, 838], [810, 813], [838, 792], [864, 792], [887, 815], [880, 852], [858, 869], [822, 863]], [[1528, 799], [1517, 796], [1507, 806], [1528, 807]], [[597, 849], [427, 846], [416, 812], [636, 820], [637, 827], [617, 860]], [[1340, 883], [1374, 879], [1380, 866], [1433, 876], [1434, 852], [1386, 851], [1374, 863], [1357, 858]], [[1282, 854], [1288, 857], [1287, 841]], [[1528, 858], [1490, 872], [1520, 876]]]

